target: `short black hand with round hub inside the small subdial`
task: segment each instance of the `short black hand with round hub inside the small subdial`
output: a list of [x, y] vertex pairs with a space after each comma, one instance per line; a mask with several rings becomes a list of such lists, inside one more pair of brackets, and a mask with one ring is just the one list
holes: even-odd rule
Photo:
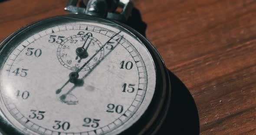
[[89, 37], [90, 37], [90, 36], [88, 36], [88, 38], [85, 40], [85, 42], [84, 42], [84, 44], [82, 45], [82, 47], [79, 47], [79, 48], [76, 48], [76, 49], [75, 49], [75, 53], [76, 53], [76, 55], [77, 55], [77, 56], [75, 57], [75, 59], [77, 60], [78, 57], [80, 58], [80, 59], [78, 60], [78, 63], [80, 63], [82, 59], [87, 58], [87, 57], [89, 56], [89, 54], [88, 54], [88, 52], [87, 52], [87, 49], [88, 49], [89, 45], [91, 44], [92, 39], [90, 40], [90, 42], [89, 42], [89, 44], [86, 46], [86, 48], [84, 48], [84, 47], [85, 47], [85, 44], [86, 44], [86, 42], [87, 42], [87, 40], [89, 39]]

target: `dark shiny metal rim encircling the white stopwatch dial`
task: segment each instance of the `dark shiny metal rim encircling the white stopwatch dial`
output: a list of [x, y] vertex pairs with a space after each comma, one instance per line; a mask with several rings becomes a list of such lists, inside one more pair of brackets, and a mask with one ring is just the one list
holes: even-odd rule
[[[52, 27], [65, 23], [75, 23], [81, 20], [91, 20], [97, 22], [104, 22], [109, 24], [115, 24], [120, 26], [122, 29], [130, 32], [134, 38], [141, 41], [141, 43], [147, 48], [148, 52], [151, 54], [151, 58], [154, 61], [154, 67], [156, 71], [156, 87], [153, 99], [151, 100], [150, 105], [146, 112], [141, 116], [141, 118], [132, 125], [129, 129], [122, 132], [122, 135], [137, 135], [137, 134], [154, 134], [159, 127], [161, 126], [163, 119], [167, 115], [167, 110], [170, 105], [171, 98], [171, 83], [168, 75], [167, 68], [164, 65], [163, 59], [159, 55], [158, 51], [154, 46], [142, 36], [140, 33], [136, 32], [134, 29], [126, 26], [122, 23], [111, 21], [108, 19], [102, 19], [93, 16], [72, 14], [72, 15], [62, 15], [51, 17], [48, 19], [40, 20], [36, 23], [24, 26], [21, 29], [18, 29], [16, 32], [8, 36], [3, 42], [0, 43], [0, 69], [3, 68], [3, 63], [6, 61], [6, 56], [14, 49], [15, 46], [12, 45], [12, 42], [23, 41], [34, 33], [31, 33], [31, 29], [37, 29], [41, 31], [45, 26]], [[16, 129], [4, 116], [3, 112], [0, 111], [0, 131], [3, 135], [24, 135], [18, 129]]]

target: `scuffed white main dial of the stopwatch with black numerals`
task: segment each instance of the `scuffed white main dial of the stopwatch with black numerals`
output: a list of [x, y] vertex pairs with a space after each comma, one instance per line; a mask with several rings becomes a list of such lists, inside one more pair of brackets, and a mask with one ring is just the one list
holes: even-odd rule
[[18, 130], [115, 135], [144, 114], [156, 72], [148, 50], [130, 32], [91, 21], [29, 32], [0, 60], [0, 108]]

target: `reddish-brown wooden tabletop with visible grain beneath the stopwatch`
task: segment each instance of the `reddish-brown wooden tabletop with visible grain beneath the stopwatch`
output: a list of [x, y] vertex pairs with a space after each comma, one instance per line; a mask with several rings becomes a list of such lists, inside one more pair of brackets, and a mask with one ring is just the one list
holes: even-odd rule
[[[0, 41], [67, 14], [67, 0], [0, 3]], [[134, 0], [147, 37], [197, 104], [201, 135], [256, 135], [256, 0]]]

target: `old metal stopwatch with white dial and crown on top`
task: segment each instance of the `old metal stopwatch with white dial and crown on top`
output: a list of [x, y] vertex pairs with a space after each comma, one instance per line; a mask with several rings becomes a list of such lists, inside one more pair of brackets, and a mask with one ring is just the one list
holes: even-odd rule
[[1, 42], [3, 135], [154, 135], [161, 127], [170, 79], [153, 45], [123, 24], [132, 3], [84, 1], [86, 8], [77, 0], [66, 7], [79, 14], [27, 25]]

